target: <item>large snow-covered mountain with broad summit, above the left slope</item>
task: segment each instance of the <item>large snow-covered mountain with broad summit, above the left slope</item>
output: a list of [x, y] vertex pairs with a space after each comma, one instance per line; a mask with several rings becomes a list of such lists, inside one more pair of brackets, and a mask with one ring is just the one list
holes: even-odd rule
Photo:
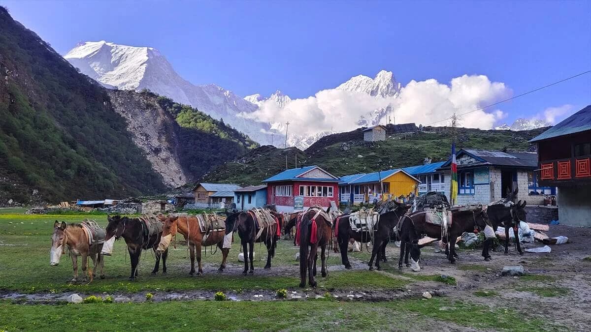
[[74, 47], [64, 58], [106, 87], [149, 89], [175, 102], [189, 104], [213, 118], [223, 118], [261, 144], [271, 143], [268, 123], [236, 116], [241, 112], [253, 112], [256, 105], [215, 84], [191, 84], [180, 77], [155, 48], [88, 41]]

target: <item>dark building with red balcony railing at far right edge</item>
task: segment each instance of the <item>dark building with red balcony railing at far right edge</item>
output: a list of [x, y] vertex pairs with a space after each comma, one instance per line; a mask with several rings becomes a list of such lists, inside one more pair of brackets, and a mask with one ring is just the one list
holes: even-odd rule
[[558, 187], [558, 220], [591, 226], [591, 105], [531, 139], [538, 145], [538, 185]]

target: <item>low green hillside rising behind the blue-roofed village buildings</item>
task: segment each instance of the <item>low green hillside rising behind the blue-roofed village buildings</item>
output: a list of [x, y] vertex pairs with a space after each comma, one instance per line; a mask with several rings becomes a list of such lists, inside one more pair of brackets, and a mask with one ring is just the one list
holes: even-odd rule
[[[546, 128], [532, 131], [482, 131], [459, 128], [457, 148], [508, 149], [526, 151], [528, 140]], [[320, 139], [306, 151], [296, 148], [277, 149], [265, 146], [254, 149], [240, 160], [229, 162], [206, 174], [203, 181], [225, 181], [237, 184], [258, 184], [261, 180], [288, 168], [319, 165], [337, 176], [374, 172], [391, 168], [420, 165], [424, 158], [433, 162], [449, 158], [451, 138], [448, 128], [427, 127], [413, 135], [390, 136], [387, 141], [365, 142], [358, 131], [333, 134]]]

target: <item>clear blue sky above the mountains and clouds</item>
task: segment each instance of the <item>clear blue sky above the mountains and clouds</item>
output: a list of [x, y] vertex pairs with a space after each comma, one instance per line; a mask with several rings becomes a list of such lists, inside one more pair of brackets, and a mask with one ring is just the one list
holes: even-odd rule
[[[185, 79], [307, 97], [394, 72], [484, 74], [514, 95], [591, 70], [591, 1], [1, 1], [61, 54], [79, 41], [151, 46]], [[506, 122], [591, 103], [591, 74], [498, 106]]]

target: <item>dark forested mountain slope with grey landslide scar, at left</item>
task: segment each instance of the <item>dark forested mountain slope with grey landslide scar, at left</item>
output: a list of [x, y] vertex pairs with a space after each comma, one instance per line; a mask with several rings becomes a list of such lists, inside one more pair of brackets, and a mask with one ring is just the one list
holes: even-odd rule
[[0, 205], [161, 193], [254, 148], [190, 106], [107, 90], [0, 7]]

